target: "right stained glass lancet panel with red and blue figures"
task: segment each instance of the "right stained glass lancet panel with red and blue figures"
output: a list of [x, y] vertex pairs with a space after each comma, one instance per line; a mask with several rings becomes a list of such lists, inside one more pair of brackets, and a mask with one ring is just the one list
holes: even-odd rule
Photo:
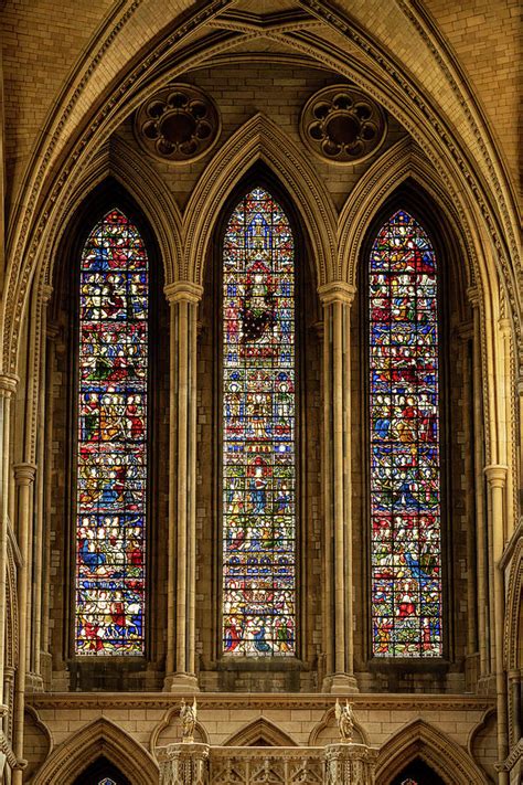
[[373, 653], [441, 656], [436, 257], [410, 215], [370, 261]]

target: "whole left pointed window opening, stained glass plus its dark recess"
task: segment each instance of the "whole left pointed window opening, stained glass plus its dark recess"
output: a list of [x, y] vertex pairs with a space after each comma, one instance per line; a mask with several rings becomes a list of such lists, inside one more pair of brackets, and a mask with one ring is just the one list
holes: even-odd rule
[[[146, 582], [151, 563], [167, 572], [153, 533], [168, 478], [151, 450], [152, 441], [159, 450], [168, 443], [158, 416], [169, 395], [164, 270], [153, 227], [113, 178], [77, 206], [56, 253], [45, 464], [56, 502], [46, 513], [43, 597], [53, 634], [44, 628], [44, 649], [58, 670], [68, 662], [72, 689], [93, 679], [122, 688], [141, 679], [143, 657], [162, 655], [151, 619], [166, 597], [151, 603]], [[58, 550], [65, 569], [55, 574]]]

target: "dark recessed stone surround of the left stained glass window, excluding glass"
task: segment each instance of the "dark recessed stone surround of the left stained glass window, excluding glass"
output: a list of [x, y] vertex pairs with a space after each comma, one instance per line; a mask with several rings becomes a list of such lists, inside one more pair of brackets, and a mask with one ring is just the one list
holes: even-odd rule
[[[149, 274], [149, 330], [148, 330], [148, 474], [146, 501], [146, 598], [145, 598], [145, 653], [143, 656], [110, 655], [83, 656], [75, 651], [75, 570], [76, 570], [76, 499], [77, 499], [77, 448], [78, 448], [78, 340], [79, 340], [79, 273], [81, 258], [89, 234], [99, 221], [113, 209], [121, 211], [138, 229], [143, 240], [148, 255]], [[131, 672], [141, 670], [143, 662], [158, 659], [161, 641], [158, 640], [158, 602], [152, 601], [150, 586], [151, 570], [166, 569], [160, 559], [159, 547], [159, 510], [154, 488], [158, 487], [160, 462], [151, 450], [151, 444], [157, 442], [160, 417], [158, 402], [158, 376], [160, 373], [159, 310], [164, 303], [162, 295], [163, 269], [159, 244], [149, 220], [138, 205], [127, 188], [109, 177], [95, 187], [76, 209], [67, 230], [63, 233], [60, 251], [60, 265], [55, 273], [56, 282], [53, 296], [53, 310], [58, 312], [65, 308], [70, 317], [67, 339], [67, 422], [68, 439], [65, 449], [64, 469], [66, 471], [66, 500], [64, 520], [67, 538], [64, 543], [64, 626], [63, 656], [68, 661], [72, 676], [72, 688], [75, 685], [97, 683], [102, 679], [104, 688], [110, 688], [116, 671]], [[164, 307], [164, 306], [163, 306]], [[167, 352], [169, 343], [166, 342]], [[167, 368], [169, 367], [166, 357]], [[167, 538], [167, 531], [164, 532]], [[163, 549], [164, 550], [164, 549]], [[53, 655], [58, 653], [55, 650]], [[104, 667], [99, 668], [100, 659]], [[110, 662], [110, 665], [109, 665]], [[98, 664], [98, 665], [97, 665]], [[87, 681], [84, 681], [87, 679]]]

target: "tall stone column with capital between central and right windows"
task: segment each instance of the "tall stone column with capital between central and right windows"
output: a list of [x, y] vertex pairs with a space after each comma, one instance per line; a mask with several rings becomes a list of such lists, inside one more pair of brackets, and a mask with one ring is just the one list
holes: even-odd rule
[[319, 288], [323, 305], [323, 505], [325, 666], [323, 689], [356, 692], [353, 669], [351, 304], [354, 287]]

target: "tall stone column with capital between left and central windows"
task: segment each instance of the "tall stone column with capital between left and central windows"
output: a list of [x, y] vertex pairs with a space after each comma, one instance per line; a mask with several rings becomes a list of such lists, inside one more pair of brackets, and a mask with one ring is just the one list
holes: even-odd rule
[[198, 690], [196, 595], [196, 339], [203, 288], [166, 287], [171, 308], [169, 425], [168, 651], [164, 690]]

